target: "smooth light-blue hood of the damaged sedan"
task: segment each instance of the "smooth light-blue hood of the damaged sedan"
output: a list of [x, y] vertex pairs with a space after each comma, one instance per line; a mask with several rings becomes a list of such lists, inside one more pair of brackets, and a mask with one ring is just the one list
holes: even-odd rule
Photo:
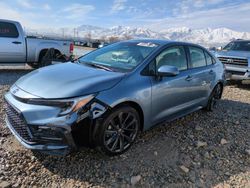
[[71, 98], [107, 90], [117, 84], [124, 75], [86, 65], [64, 63], [32, 71], [15, 84], [36, 97]]

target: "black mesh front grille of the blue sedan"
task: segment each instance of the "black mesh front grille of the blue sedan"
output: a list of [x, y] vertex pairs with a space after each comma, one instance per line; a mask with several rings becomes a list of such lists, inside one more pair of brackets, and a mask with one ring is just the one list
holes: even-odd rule
[[6, 102], [6, 114], [10, 125], [19, 135], [19, 137], [21, 137], [26, 142], [32, 142], [33, 139], [30, 130], [24, 120], [23, 115], [7, 102]]

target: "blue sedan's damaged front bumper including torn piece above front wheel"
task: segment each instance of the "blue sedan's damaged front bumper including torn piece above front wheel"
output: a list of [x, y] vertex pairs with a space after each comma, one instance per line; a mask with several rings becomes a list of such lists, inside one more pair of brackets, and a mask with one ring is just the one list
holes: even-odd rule
[[82, 144], [79, 139], [91, 134], [83, 127], [89, 130], [93, 121], [86, 120], [98, 118], [107, 110], [93, 101], [79, 112], [58, 116], [60, 109], [56, 107], [25, 104], [11, 93], [5, 95], [5, 101], [6, 125], [16, 139], [27, 149], [55, 155], [76, 150]]

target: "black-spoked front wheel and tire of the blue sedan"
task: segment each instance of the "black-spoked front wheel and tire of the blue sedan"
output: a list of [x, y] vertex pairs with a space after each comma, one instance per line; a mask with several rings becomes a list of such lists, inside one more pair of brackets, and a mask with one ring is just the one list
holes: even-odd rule
[[134, 143], [139, 128], [140, 118], [134, 108], [122, 106], [111, 111], [98, 134], [101, 151], [109, 156], [125, 152]]

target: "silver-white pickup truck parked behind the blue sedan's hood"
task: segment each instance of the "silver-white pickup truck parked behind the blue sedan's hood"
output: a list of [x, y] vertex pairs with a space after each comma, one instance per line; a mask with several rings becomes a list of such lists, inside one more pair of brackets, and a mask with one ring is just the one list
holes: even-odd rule
[[20, 23], [0, 19], [0, 66], [28, 64], [41, 67], [50, 48], [54, 48], [56, 56], [70, 57], [74, 46], [71, 41], [26, 37]]

